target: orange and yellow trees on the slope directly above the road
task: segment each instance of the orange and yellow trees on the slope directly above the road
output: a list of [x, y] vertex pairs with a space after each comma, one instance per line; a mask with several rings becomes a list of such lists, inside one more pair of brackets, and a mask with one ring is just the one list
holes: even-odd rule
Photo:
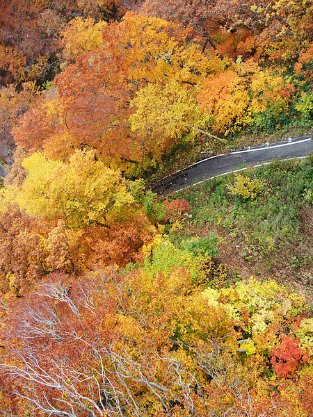
[[182, 142], [203, 144], [201, 133], [215, 144], [210, 131], [232, 140], [310, 119], [312, 44], [291, 31], [300, 18], [295, 5], [287, 18], [283, 2], [251, 3], [249, 12], [237, 2], [216, 1], [212, 9], [187, 3], [145, 2], [148, 17], [127, 12], [118, 22], [88, 15], [64, 23], [62, 71], [15, 126], [17, 145], [56, 159], [91, 147], [105, 163], [138, 175]]

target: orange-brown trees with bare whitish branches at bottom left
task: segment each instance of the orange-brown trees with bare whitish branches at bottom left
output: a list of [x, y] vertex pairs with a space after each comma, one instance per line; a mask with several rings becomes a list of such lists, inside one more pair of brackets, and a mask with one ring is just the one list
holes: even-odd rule
[[[148, 318], [128, 308], [126, 287], [107, 275], [71, 284], [56, 279], [15, 311], [6, 309], [3, 398], [24, 402], [33, 416], [255, 417], [223, 341], [177, 341], [175, 349], [160, 349], [145, 331]], [[129, 294], [131, 303], [137, 299]], [[140, 336], [125, 337], [122, 316]], [[113, 327], [105, 325], [110, 322]], [[226, 393], [232, 404], [223, 401]], [[2, 411], [14, 413], [18, 407]]]

